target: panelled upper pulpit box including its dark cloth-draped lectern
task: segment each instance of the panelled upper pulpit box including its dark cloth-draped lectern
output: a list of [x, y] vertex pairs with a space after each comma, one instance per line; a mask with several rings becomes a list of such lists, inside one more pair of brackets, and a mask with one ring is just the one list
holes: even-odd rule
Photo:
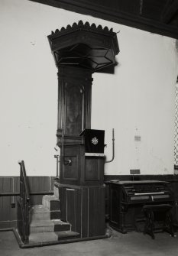
[[60, 183], [99, 186], [104, 178], [104, 133], [86, 129], [81, 144], [62, 144]]

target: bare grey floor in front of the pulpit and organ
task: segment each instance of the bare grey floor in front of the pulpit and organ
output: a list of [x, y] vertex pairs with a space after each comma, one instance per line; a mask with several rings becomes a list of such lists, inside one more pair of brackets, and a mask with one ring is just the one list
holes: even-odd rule
[[0, 232], [1, 256], [163, 256], [178, 255], [178, 233], [172, 238], [167, 233], [157, 233], [155, 240], [138, 232], [121, 234], [113, 231], [112, 238], [51, 245], [42, 248], [18, 247], [13, 232]]

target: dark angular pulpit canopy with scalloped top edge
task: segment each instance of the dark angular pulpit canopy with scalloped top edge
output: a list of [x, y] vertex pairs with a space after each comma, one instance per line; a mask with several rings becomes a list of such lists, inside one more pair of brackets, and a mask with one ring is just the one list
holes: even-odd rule
[[52, 31], [48, 40], [57, 66], [80, 66], [97, 72], [115, 66], [115, 55], [119, 53], [117, 34], [89, 22], [79, 21]]

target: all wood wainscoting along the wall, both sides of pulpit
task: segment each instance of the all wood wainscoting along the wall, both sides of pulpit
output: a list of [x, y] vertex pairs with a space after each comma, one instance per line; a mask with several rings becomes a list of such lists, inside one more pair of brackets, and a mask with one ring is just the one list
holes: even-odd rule
[[[109, 180], [131, 180], [131, 175], [105, 175], [105, 213], [108, 213], [108, 186]], [[170, 186], [175, 194], [178, 203], [178, 175], [139, 175], [135, 178], [139, 180], [166, 180], [170, 182]], [[41, 204], [42, 192], [50, 192], [53, 190], [54, 177], [28, 177], [31, 193], [31, 204]], [[19, 177], [0, 177], [0, 229], [12, 228], [17, 222], [17, 201], [19, 193]], [[5, 196], [5, 193], [11, 193], [11, 196]], [[14, 208], [15, 206], [15, 208]], [[176, 211], [176, 219], [178, 222], [178, 212]]]

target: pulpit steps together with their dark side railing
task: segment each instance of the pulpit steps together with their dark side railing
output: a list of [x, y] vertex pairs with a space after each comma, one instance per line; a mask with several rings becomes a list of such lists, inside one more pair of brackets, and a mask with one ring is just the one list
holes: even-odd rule
[[14, 229], [15, 237], [21, 248], [56, 245], [65, 241], [78, 239], [80, 234], [72, 231], [69, 222], [60, 219], [59, 191], [54, 187], [52, 196], [45, 195], [42, 205], [31, 206], [28, 178], [24, 160], [19, 162], [20, 197], [18, 199], [18, 227]]

